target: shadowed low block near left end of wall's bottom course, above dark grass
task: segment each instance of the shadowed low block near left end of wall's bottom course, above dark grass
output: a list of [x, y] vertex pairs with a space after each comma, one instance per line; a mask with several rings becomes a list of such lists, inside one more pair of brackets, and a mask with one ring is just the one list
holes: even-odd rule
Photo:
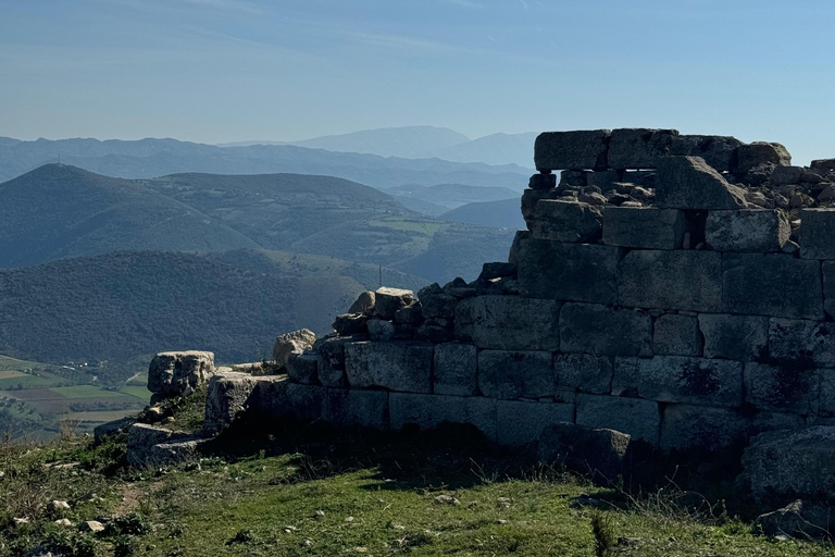
[[388, 393], [359, 388], [328, 388], [324, 419], [334, 425], [388, 429]]

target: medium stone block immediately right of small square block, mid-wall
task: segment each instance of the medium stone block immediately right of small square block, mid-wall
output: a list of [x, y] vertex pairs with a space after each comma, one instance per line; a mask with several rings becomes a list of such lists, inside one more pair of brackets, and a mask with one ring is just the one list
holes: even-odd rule
[[769, 318], [702, 313], [699, 329], [705, 337], [706, 358], [753, 361], [767, 356]]

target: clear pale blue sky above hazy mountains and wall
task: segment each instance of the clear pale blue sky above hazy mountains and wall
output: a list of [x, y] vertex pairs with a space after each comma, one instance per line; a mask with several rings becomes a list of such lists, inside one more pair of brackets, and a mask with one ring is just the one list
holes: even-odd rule
[[835, 157], [832, 0], [0, 0], [0, 136], [676, 128]]

